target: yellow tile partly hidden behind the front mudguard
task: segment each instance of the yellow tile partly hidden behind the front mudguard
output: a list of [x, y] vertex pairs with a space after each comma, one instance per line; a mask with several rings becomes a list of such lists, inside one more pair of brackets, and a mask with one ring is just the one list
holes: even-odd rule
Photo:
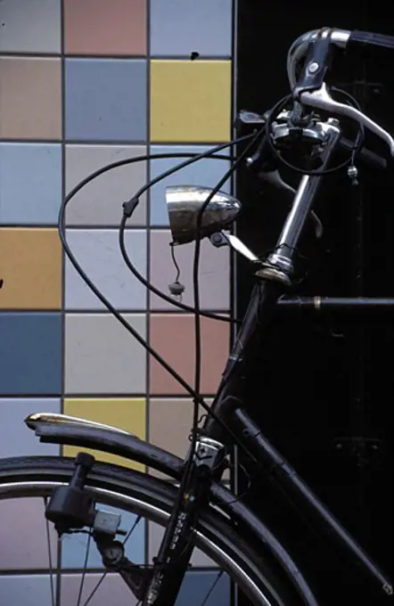
[[[64, 414], [78, 416], [90, 421], [113, 425], [120, 430], [134, 433], [145, 439], [145, 400], [132, 398], [67, 398], [64, 400]], [[75, 456], [81, 450], [78, 446], [63, 446], [65, 456]], [[84, 449], [85, 450], [85, 449]], [[144, 471], [144, 465], [132, 463], [123, 457], [86, 449], [98, 461], [115, 463], [124, 467]]]

